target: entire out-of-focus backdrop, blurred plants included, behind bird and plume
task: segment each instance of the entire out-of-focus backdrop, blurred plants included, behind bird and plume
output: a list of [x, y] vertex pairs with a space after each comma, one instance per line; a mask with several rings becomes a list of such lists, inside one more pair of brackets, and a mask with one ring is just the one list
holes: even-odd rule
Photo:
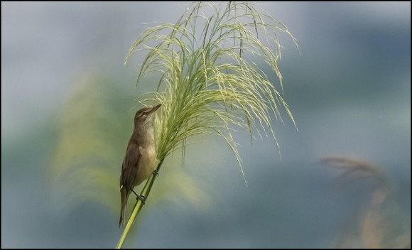
[[[279, 68], [298, 131], [273, 119], [281, 156], [234, 133], [248, 186], [220, 138], [168, 157], [125, 246], [410, 247], [411, 3], [254, 4], [297, 39]], [[145, 54], [124, 58], [187, 5], [1, 2], [3, 248], [116, 246], [121, 161], [156, 90], [136, 87]]]

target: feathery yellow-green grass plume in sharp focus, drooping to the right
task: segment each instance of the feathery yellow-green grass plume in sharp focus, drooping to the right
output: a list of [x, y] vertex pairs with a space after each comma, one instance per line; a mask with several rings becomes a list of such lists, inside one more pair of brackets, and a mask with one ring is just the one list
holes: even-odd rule
[[[160, 165], [176, 148], [183, 147], [184, 154], [188, 139], [215, 134], [224, 138], [242, 170], [231, 124], [250, 136], [253, 126], [269, 128], [278, 146], [271, 114], [280, 119], [283, 107], [295, 124], [281, 97], [278, 33], [286, 33], [295, 42], [280, 21], [259, 12], [254, 4], [234, 2], [219, 6], [195, 2], [175, 24], [159, 23], [141, 33], [126, 60], [136, 52], [147, 51], [137, 82], [150, 73], [160, 77], [153, 98], [146, 99], [162, 104], [156, 117]], [[149, 47], [153, 42], [156, 45]], [[266, 62], [276, 72], [281, 89], [276, 89], [245, 56]]]

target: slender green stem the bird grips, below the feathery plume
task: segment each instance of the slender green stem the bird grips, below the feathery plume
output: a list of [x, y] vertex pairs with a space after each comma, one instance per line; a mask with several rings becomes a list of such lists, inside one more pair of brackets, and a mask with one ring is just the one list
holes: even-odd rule
[[[160, 163], [158, 164], [158, 167], [156, 168], [157, 171], [159, 171], [161, 169], [161, 165], [163, 163], [163, 160], [160, 161]], [[157, 177], [157, 173], [154, 173], [151, 175], [151, 177], [148, 178], [146, 185], [144, 185], [143, 190], [141, 190], [140, 195], [142, 197], [146, 197], [145, 200], [147, 199], [151, 188], [153, 187], [153, 183], [156, 180]], [[143, 207], [144, 202], [140, 199], [136, 199], [136, 204], [134, 205], [134, 209], [133, 212], [131, 213], [130, 219], [126, 224], [126, 227], [124, 228], [123, 234], [121, 234], [119, 243], [116, 246], [116, 249], [121, 249], [121, 246], [123, 246], [124, 240], [126, 239], [127, 234], [129, 234], [129, 230], [131, 228], [131, 225], [134, 222], [134, 219], [136, 219], [137, 214], [139, 214], [141, 208]]]

